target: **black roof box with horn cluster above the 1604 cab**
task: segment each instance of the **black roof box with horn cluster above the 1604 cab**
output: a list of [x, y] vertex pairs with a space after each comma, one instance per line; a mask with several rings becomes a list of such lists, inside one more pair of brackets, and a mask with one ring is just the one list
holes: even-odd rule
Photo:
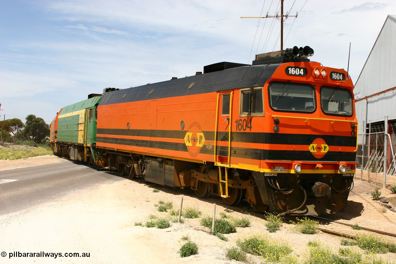
[[276, 52], [257, 54], [253, 65], [284, 63], [292, 61], [310, 61], [308, 57], [314, 55], [314, 50], [309, 46], [288, 48]]

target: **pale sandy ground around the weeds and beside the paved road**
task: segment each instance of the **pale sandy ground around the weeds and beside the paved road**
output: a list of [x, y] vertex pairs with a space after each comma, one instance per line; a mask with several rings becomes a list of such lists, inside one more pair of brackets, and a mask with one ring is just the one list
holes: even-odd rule
[[[70, 161], [52, 155], [0, 161], [0, 170], [59, 162]], [[158, 189], [159, 192], [154, 193], [153, 189]], [[374, 189], [374, 184], [355, 180], [345, 212], [331, 218], [396, 233], [396, 213], [388, 209], [384, 211], [378, 201], [372, 201], [371, 191]], [[383, 196], [390, 196], [390, 191], [380, 191]], [[217, 203], [217, 214], [223, 212], [234, 217], [248, 217], [251, 226], [237, 228], [237, 233], [225, 235], [229, 239], [225, 242], [211, 235], [208, 229], [200, 225], [198, 219], [185, 219], [184, 224], [173, 224], [163, 230], [134, 225], [146, 222], [150, 215], [169, 216], [169, 213], [158, 212], [155, 205], [158, 201], [171, 201], [174, 208], [178, 209], [182, 197], [183, 207], [197, 207], [204, 215], [211, 215], [213, 203]], [[303, 235], [288, 223], [284, 223], [276, 233], [269, 233], [264, 226], [264, 216], [254, 214], [252, 210], [225, 208], [217, 198], [201, 200], [188, 191], [129, 179], [76, 191], [50, 203], [2, 215], [0, 221], [0, 252], [7, 254], [4, 258], [0, 257], [0, 263], [239, 263], [227, 260], [225, 251], [235, 245], [237, 239], [253, 234], [262, 234], [278, 242], [288, 243], [293, 254], [301, 258], [308, 254], [309, 241], [320, 241], [335, 251], [342, 247], [341, 237], [322, 232]], [[348, 234], [366, 232], [334, 223], [321, 227]], [[199, 251], [197, 255], [180, 258], [177, 251], [183, 243], [181, 238], [186, 235], [198, 244]], [[396, 243], [396, 237], [386, 239]], [[8, 258], [9, 253], [42, 251], [89, 253], [90, 256], [89, 259], [59, 256]], [[396, 262], [396, 254], [379, 256]], [[261, 260], [252, 257], [250, 261], [260, 263]]]

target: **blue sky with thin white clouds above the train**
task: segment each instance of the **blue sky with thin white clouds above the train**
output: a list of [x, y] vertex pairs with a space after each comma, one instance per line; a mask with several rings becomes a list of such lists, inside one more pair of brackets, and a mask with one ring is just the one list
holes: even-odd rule
[[[194, 75], [221, 61], [251, 63], [280, 50], [269, 0], [0, 0], [0, 120], [51, 122], [66, 105], [101, 93]], [[356, 82], [393, 1], [285, 0], [284, 48], [348, 67]], [[287, 36], [287, 38], [286, 38]], [[278, 41], [277, 41], [278, 40]]]

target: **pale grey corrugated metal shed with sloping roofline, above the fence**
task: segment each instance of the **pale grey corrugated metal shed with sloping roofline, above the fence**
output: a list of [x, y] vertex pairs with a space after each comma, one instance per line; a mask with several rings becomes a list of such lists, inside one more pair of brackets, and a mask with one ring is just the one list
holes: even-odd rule
[[360, 126], [363, 121], [383, 121], [385, 115], [396, 119], [396, 15], [386, 17], [356, 80], [354, 94]]

